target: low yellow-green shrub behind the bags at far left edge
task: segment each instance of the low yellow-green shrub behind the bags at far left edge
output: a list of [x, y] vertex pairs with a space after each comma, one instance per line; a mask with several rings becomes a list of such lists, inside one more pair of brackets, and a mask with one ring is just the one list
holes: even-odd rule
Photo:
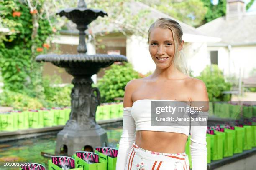
[[18, 110], [38, 109], [43, 107], [41, 102], [36, 98], [10, 90], [3, 90], [0, 97], [0, 105], [13, 107]]

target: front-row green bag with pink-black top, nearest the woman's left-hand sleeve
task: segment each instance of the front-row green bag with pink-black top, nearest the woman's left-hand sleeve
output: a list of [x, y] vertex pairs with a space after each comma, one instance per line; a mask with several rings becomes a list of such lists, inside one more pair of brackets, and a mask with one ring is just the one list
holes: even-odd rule
[[100, 162], [107, 163], [107, 170], [115, 170], [118, 150], [108, 147], [95, 147]]

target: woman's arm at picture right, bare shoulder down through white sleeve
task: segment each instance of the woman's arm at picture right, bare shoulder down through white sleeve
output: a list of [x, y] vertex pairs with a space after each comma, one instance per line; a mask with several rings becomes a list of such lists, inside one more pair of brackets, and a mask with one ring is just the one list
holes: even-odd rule
[[[191, 107], [202, 107], [202, 112], [197, 116], [207, 117], [209, 109], [209, 98], [205, 83], [194, 79], [191, 85]], [[193, 115], [191, 115], [193, 116]], [[192, 160], [192, 170], [207, 169], [207, 147], [206, 147], [207, 121], [191, 122], [190, 126], [190, 152]]]

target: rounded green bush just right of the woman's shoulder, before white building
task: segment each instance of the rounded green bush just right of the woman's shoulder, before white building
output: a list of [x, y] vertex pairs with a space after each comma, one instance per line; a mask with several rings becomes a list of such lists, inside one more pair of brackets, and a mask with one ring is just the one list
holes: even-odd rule
[[228, 95], [224, 95], [222, 92], [229, 91], [231, 84], [225, 82], [223, 73], [217, 65], [208, 65], [197, 78], [205, 82], [210, 101], [226, 101], [230, 99]]

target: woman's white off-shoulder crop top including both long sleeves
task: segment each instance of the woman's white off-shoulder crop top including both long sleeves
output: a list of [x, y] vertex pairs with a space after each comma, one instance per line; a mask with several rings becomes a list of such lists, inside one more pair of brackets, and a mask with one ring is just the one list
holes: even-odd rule
[[[151, 126], [151, 101], [137, 100], [132, 107], [123, 108], [123, 133], [121, 135], [116, 170], [124, 170], [129, 150], [135, 141], [137, 130], [183, 133], [189, 136], [192, 170], [207, 169], [207, 126]], [[155, 101], [155, 100], [154, 100]], [[166, 100], [172, 101], [172, 100]]]

